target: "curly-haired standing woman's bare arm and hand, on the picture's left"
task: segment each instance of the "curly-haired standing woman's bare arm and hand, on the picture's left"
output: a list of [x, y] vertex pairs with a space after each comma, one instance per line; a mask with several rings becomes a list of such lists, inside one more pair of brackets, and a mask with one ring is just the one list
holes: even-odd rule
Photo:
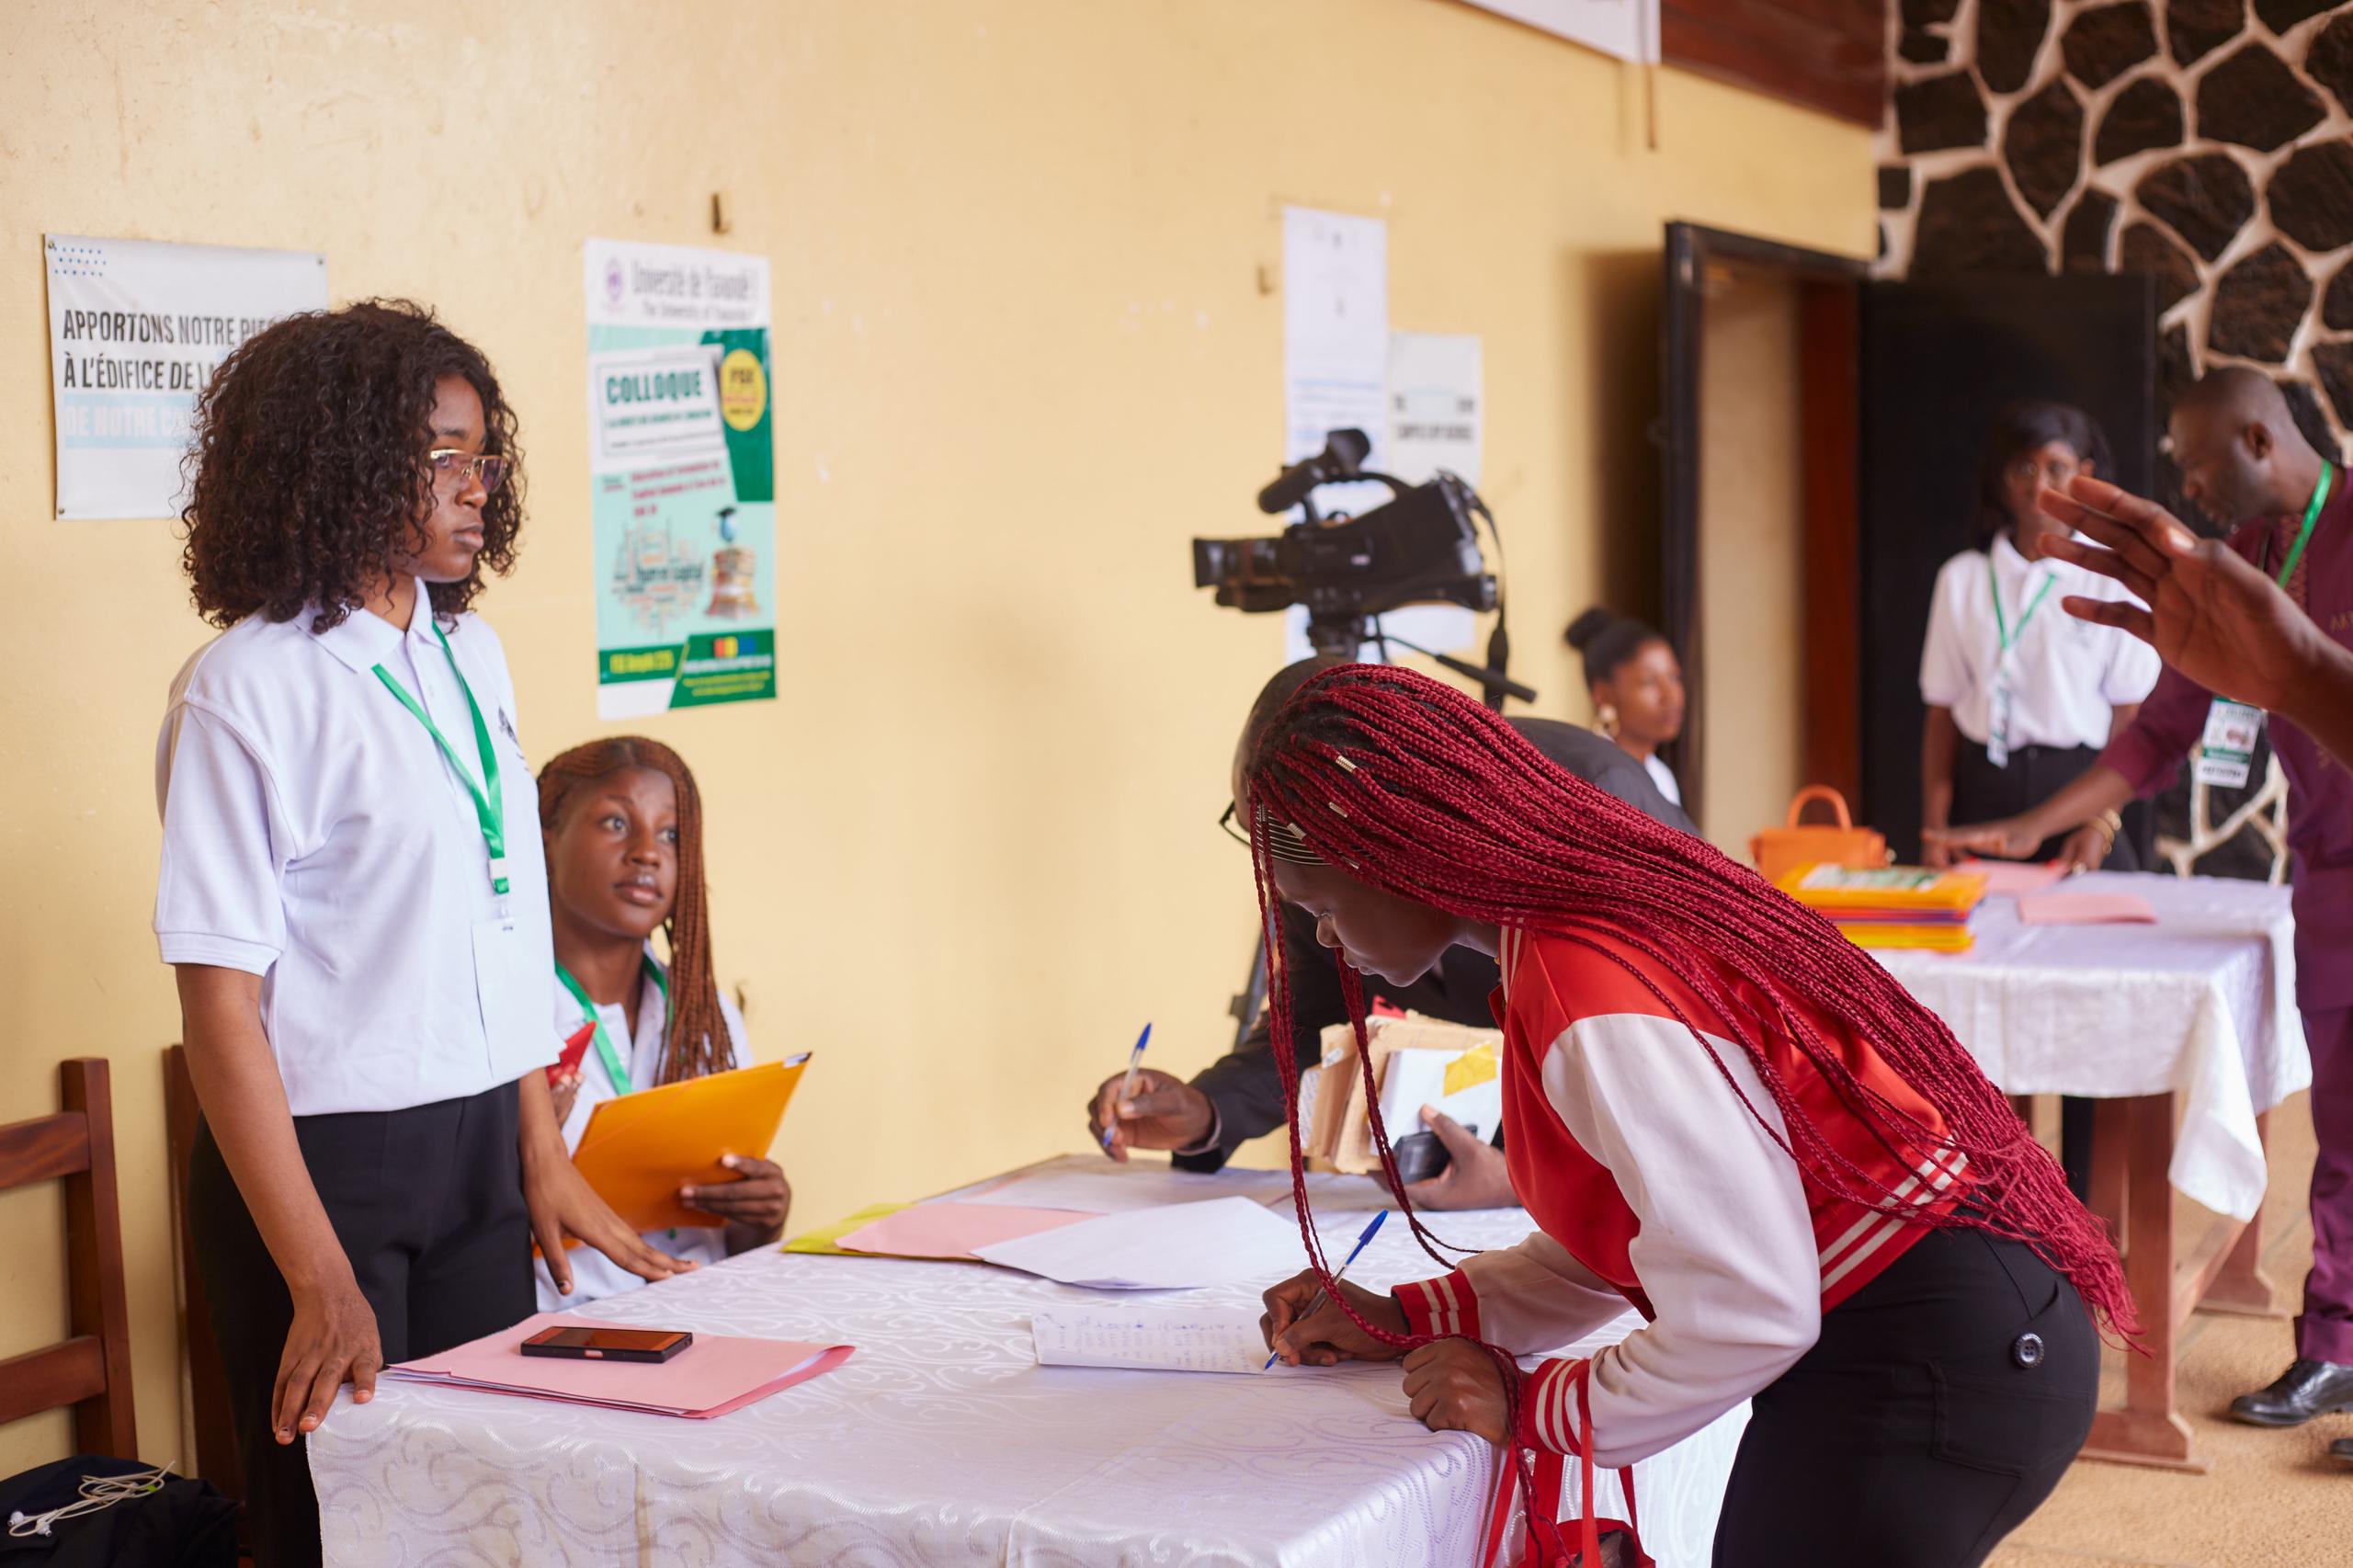
[[376, 1314], [360, 1295], [294, 1140], [285, 1078], [261, 1031], [261, 977], [205, 963], [179, 963], [172, 972], [205, 1125], [294, 1297], [294, 1326], [271, 1391], [271, 1431], [292, 1443], [301, 1431], [318, 1431], [346, 1380], [353, 1401], [365, 1406], [376, 1396], [384, 1368]]

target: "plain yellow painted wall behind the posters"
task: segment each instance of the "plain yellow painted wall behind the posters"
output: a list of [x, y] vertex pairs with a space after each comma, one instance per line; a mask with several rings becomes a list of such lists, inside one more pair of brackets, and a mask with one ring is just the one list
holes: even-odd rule
[[[1391, 224], [1398, 327], [1487, 346], [1518, 673], [1649, 610], [1659, 226], [1871, 242], [1871, 139], [1445, 0], [12, 0], [0, 7], [7, 1116], [115, 1062], [139, 1429], [186, 1455], [148, 913], [151, 749], [205, 636], [165, 523], [49, 520], [40, 231], [322, 250], [496, 360], [532, 520], [485, 600], [525, 744], [598, 730], [579, 240], [774, 259], [776, 704], [696, 765], [722, 982], [816, 1050], [821, 1222], [1080, 1147], [1141, 1019], [1195, 1069], [1252, 928], [1212, 819], [1271, 619], [1191, 589], [1280, 454], [1280, 207]], [[708, 233], [722, 191], [734, 233]], [[56, 1201], [0, 1198], [0, 1356], [61, 1333]], [[0, 1431], [0, 1474], [64, 1450]]]

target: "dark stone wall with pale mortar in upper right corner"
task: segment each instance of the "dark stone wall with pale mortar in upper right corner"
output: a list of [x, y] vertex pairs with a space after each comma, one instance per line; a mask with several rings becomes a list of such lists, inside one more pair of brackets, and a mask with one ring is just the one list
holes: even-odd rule
[[2153, 273], [2167, 391], [2353, 431], [2353, 5], [1894, 0], [1880, 268]]

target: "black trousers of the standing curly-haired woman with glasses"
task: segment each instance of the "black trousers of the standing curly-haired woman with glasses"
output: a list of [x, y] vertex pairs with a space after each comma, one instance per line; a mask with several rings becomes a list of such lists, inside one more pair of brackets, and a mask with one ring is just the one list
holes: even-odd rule
[[[376, 1311], [386, 1363], [480, 1340], [532, 1314], [515, 1116], [515, 1085], [501, 1083], [407, 1111], [294, 1118], [311, 1184]], [[271, 1391], [294, 1300], [209, 1128], [188, 1158], [188, 1222], [228, 1370], [254, 1563], [308, 1568], [320, 1561], [311, 1460], [304, 1439], [280, 1446], [271, 1436]]]

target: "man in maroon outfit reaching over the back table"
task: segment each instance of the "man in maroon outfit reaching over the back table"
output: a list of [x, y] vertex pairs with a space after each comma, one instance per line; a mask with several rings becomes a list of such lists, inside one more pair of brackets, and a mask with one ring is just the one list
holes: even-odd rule
[[[2233, 525], [2224, 546], [2271, 577], [2332, 643], [2353, 640], [2353, 494], [2306, 445], [2271, 377], [2242, 367], [2207, 374], [2174, 405], [2169, 436], [2181, 494]], [[2071, 520], [2066, 511], [2061, 520]], [[2214, 711], [2212, 687], [2167, 669], [2099, 765], [2026, 815], [1953, 829], [1946, 841], [2026, 855], [2052, 833], [2151, 796], [2200, 746]], [[2231, 1401], [2231, 1415], [2297, 1427], [2353, 1410], [2353, 779], [2294, 720], [2275, 723], [2271, 744], [2287, 772], [2297, 1005], [2313, 1052], [2313, 1269], [2294, 1361], [2268, 1387]]]

